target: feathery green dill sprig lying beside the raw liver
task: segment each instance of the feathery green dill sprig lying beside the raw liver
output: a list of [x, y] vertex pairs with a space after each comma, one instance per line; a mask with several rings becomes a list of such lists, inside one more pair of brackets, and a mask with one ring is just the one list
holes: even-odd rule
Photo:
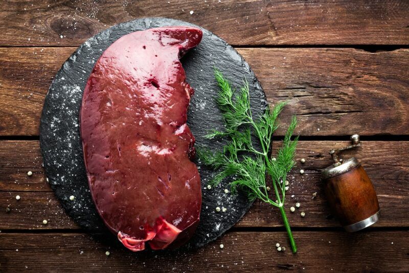
[[[255, 120], [250, 108], [247, 81], [243, 81], [243, 86], [236, 94], [229, 81], [219, 70], [215, 69], [214, 73], [219, 86], [216, 101], [222, 113], [225, 128], [223, 131], [212, 130], [206, 135], [206, 138], [225, 138], [228, 143], [221, 151], [216, 152], [199, 148], [197, 155], [203, 164], [218, 171], [211, 181], [212, 185], [219, 184], [227, 177], [234, 177], [230, 183], [232, 193], [240, 188], [247, 193], [249, 199], [259, 198], [278, 207], [288, 233], [292, 252], [296, 253], [297, 246], [284, 211], [284, 181], [287, 173], [295, 165], [294, 155], [298, 137], [291, 140], [291, 136], [297, 126], [297, 119], [292, 118], [276, 158], [271, 158], [272, 135], [278, 128], [278, 116], [286, 103], [281, 102], [274, 108], [267, 109]], [[255, 139], [259, 142], [261, 150], [253, 145]], [[269, 183], [274, 189], [274, 199], [270, 198], [273, 194], [269, 193], [270, 187], [267, 185], [266, 173], [271, 177]]]

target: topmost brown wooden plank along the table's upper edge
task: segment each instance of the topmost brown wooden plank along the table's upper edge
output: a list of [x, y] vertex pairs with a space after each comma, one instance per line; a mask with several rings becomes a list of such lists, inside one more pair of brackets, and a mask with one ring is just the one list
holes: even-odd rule
[[409, 44], [408, 13], [407, 1], [388, 0], [2, 1], [0, 45], [78, 46], [119, 22], [156, 16], [192, 22], [237, 45]]

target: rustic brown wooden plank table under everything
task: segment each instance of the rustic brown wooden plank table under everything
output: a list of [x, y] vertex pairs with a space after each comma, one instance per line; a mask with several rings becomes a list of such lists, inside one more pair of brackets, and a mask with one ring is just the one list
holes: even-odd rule
[[[409, 2], [99, 2], [0, 3], [0, 271], [409, 271]], [[288, 213], [296, 255], [278, 210], [258, 201], [208, 246], [154, 257], [85, 233], [60, 207], [38, 142], [48, 87], [87, 38], [148, 16], [209, 29], [244, 56], [270, 104], [290, 101], [282, 122], [298, 115], [297, 158], [307, 161], [290, 175], [294, 198], [286, 204], [301, 203]], [[320, 170], [331, 164], [328, 150], [348, 144], [353, 133], [362, 135], [362, 147], [347, 156], [356, 155], [372, 178], [381, 218], [348, 234], [328, 210]]]

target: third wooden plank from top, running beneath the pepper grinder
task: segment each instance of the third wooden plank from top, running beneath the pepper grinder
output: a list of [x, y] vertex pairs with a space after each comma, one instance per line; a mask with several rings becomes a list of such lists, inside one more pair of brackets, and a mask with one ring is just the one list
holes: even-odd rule
[[[327, 151], [346, 145], [346, 141], [299, 143], [297, 159], [306, 158], [307, 162], [302, 165], [298, 161], [297, 167], [289, 176], [290, 189], [286, 197], [286, 210], [292, 226], [339, 226], [328, 209], [319, 172], [331, 164]], [[409, 203], [409, 164], [406, 160], [408, 153], [409, 142], [382, 141], [364, 141], [361, 148], [345, 153], [345, 157], [355, 155], [359, 158], [373, 181], [381, 208], [381, 219], [376, 224], [378, 227], [409, 226], [405, 209], [405, 204]], [[305, 170], [304, 175], [299, 173], [301, 168]], [[33, 176], [27, 176], [27, 171], [33, 171]], [[0, 141], [0, 176], [0, 230], [78, 228], [65, 215], [46, 182], [38, 141]], [[314, 192], [317, 192], [317, 197], [312, 199]], [[17, 201], [16, 195], [20, 195], [21, 199]], [[291, 198], [291, 195], [294, 195], [294, 198]], [[290, 213], [289, 208], [296, 202], [301, 203], [301, 208]], [[11, 212], [6, 213], [7, 207]], [[306, 213], [306, 217], [300, 217], [301, 211]], [[39, 224], [43, 219], [47, 219], [49, 224]], [[282, 222], [276, 208], [256, 201], [236, 226], [278, 227], [282, 226]]]

